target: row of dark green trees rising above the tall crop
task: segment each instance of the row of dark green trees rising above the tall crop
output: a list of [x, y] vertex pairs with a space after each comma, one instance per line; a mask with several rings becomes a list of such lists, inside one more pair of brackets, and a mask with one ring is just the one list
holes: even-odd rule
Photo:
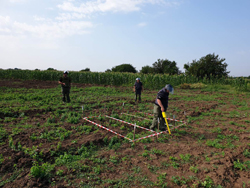
[[192, 75], [203, 79], [204, 77], [225, 77], [228, 76], [228, 64], [225, 58], [219, 58], [219, 55], [208, 54], [199, 60], [193, 60], [191, 63], [184, 64], [185, 73], [183, 73], [175, 61], [168, 59], [158, 59], [152, 66], [146, 65], [140, 71], [137, 71], [131, 64], [121, 64], [107, 69], [105, 72], [131, 72], [143, 74], [168, 74], [168, 75]]

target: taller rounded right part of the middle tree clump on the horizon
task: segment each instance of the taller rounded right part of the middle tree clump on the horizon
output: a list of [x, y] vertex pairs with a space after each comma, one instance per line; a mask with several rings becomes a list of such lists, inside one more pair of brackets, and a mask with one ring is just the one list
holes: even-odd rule
[[153, 64], [153, 69], [155, 73], [159, 74], [169, 74], [169, 75], [174, 75], [174, 74], [179, 74], [181, 71], [177, 67], [177, 64], [175, 61], [169, 61], [168, 59], [158, 59], [154, 64]]

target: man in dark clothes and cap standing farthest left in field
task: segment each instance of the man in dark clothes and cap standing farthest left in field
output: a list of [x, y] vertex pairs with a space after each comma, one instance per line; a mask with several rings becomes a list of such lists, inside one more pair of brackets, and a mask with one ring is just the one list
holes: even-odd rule
[[68, 76], [68, 74], [69, 74], [68, 71], [64, 71], [63, 76], [60, 77], [58, 81], [58, 83], [61, 84], [62, 86], [63, 102], [66, 102], [66, 97], [67, 97], [67, 102], [70, 102], [69, 93], [71, 88], [71, 78]]

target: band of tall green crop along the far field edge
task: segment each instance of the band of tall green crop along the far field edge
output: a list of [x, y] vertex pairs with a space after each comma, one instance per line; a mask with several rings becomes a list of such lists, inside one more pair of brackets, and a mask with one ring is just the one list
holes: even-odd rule
[[[62, 76], [61, 71], [40, 70], [3, 70], [0, 69], [0, 79], [22, 79], [22, 80], [50, 80], [56, 81]], [[186, 75], [162, 75], [162, 74], [139, 74], [139, 73], [102, 73], [102, 72], [70, 72], [74, 83], [99, 84], [112, 86], [133, 86], [135, 79], [140, 77], [145, 88], [159, 89], [166, 84], [178, 86], [183, 83], [221, 84], [236, 87], [238, 90], [247, 91], [249, 87], [247, 79], [232, 77], [204, 77], [199, 79], [195, 76]]]

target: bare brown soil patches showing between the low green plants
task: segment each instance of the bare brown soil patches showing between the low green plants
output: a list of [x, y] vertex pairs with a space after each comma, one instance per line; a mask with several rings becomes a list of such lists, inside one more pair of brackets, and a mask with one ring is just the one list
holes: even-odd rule
[[[76, 87], [89, 87], [88, 84], [73, 84], [73, 86]], [[54, 88], [58, 87], [58, 83], [56, 81], [22, 81], [22, 80], [1, 80], [0, 87], [11, 87], [11, 88], [37, 88], [37, 89], [47, 89], [47, 88]], [[109, 87], [109, 86], [106, 86]], [[144, 102], [146, 103], [152, 103], [154, 101], [153, 95], [155, 95], [155, 92], [148, 91], [148, 94], [152, 93], [152, 100], [146, 100]], [[193, 95], [197, 94], [199, 92], [194, 92]], [[204, 94], [210, 94], [210, 93], [204, 93]], [[192, 95], [190, 95], [192, 96]], [[230, 100], [233, 96], [228, 94], [226, 97]], [[244, 96], [241, 96], [244, 97]], [[104, 99], [102, 102], [108, 103], [113, 101], [114, 99]], [[127, 100], [127, 98], [117, 98], [117, 101], [120, 100], [121, 104], [122, 101]], [[223, 98], [220, 98], [218, 100], [224, 100]], [[186, 103], [187, 105], [182, 104], [179, 100], [170, 99], [171, 104], [174, 107], [178, 107], [180, 110], [174, 111], [171, 110], [170, 112], [172, 114], [175, 114], [177, 119], [179, 120], [187, 120], [188, 116], [191, 117], [199, 117], [201, 113], [209, 112], [211, 109], [221, 109], [223, 113], [226, 114], [226, 112], [230, 112], [231, 110], [235, 110], [239, 106], [235, 105], [220, 105], [217, 101], [209, 101], [209, 102], [197, 102], [197, 101], [189, 101]], [[127, 101], [127, 103], [135, 104], [133, 101]], [[119, 106], [121, 105], [119, 104]], [[117, 104], [118, 105], [118, 104]], [[134, 107], [136, 109], [136, 106]], [[43, 114], [45, 110], [37, 109], [37, 110], [28, 110], [25, 112], [26, 115], [30, 118], [30, 123], [34, 124], [34, 128], [27, 129], [26, 132], [21, 132], [20, 134], [14, 135], [12, 138], [15, 140], [15, 146], [18, 146], [18, 142], [21, 143], [21, 145], [25, 145], [28, 148], [31, 148], [32, 146], [37, 146], [40, 143], [42, 143], [42, 146], [39, 147], [38, 152], [43, 152], [43, 161], [46, 162], [54, 162], [55, 158], [54, 156], [51, 156], [50, 150], [56, 150], [56, 146], [53, 146], [53, 142], [49, 142], [46, 139], [39, 139], [32, 141], [30, 139], [30, 136], [32, 134], [39, 135], [40, 133], [44, 132], [45, 128], [37, 127], [37, 123], [43, 124], [46, 119], [50, 116], [49, 114]], [[100, 113], [101, 110], [99, 108], [96, 109], [97, 113]], [[117, 113], [120, 113], [121, 110], [117, 110]], [[39, 117], [37, 117], [37, 114], [40, 114]], [[111, 113], [111, 110], [107, 113]], [[201, 180], [204, 180], [207, 176], [209, 176], [216, 185], [221, 185], [223, 187], [242, 187], [243, 183], [247, 183], [250, 179], [250, 173], [248, 171], [240, 171], [236, 170], [234, 168], [234, 161], [236, 160], [244, 160], [244, 156], [242, 155], [243, 151], [245, 149], [250, 149], [250, 146], [241, 145], [243, 142], [248, 142], [250, 140], [249, 132], [238, 132], [237, 136], [239, 137], [239, 142], [237, 142], [238, 147], [236, 149], [215, 149], [214, 147], [208, 147], [204, 144], [204, 141], [201, 139], [200, 142], [197, 141], [197, 137], [203, 136], [206, 139], [216, 139], [217, 133], [216, 132], [208, 132], [206, 129], [202, 128], [204, 126], [208, 126], [211, 129], [213, 128], [220, 128], [224, 135], [230, 135], [232, 134], [233, 129], [240, 129], [239, 127], [235, 128], [231, 124], [229, 124], [230, 121], [241, 123], [242, 125], [246, 125], [242, 121], [242, 118], [233, 117], [233, 118], [226, 118], [226, 120], [220, 120], [219, 117], [225, 115], [221, 112], [213, 112], [214, 117], [218, 117], [218, 120], [216, 122], [211, 121], [209, 119], [202, 120], [200, 124], [193, 124], [192, 122], [189, 122], [188, 125], [191, 126], [189, 129], [183, 129], [187, 131], [187, 134], [182, 135], [175, 135], [172, 134], [171, 137], [168, 137], [168, 139], [165, 140], [164, 143], [156, 142], [156, 138], [153, 138], [154, 142], [151, 143], [136, 143], [135, 147], [132, 148], [131, 145], [123, 144], [117, 151], [114, 150], [106, 150], [102, 151], [98, 158], [109, 158], [110, 156], [119, 156], [119, 160], [126, 156], [133, 156], [131, 160], [120, 162], [119, 165], [108, 163], [108, 169], [116, 168], [116, 171], [105, 171], [98, 175], [101, 179], [120, 179], [124, 178], [125, 173], [131, 173], [131, 169], [133, 167], [140, 167], [141, 171], [143, 172], [143, 175], [150, 178], [151, 181], [157, 182], [158, 176], [161, 173], [167, 173], [166, 179], [168, 182], [169, 187], [195, 187], [195, 184], [198, 184], [197, 180], [192, 180], [187, 183], [187, 185], [183, 186], [177, 186], [171, 181], [172, 176], [180, 176], [188, 178], [189, 176], [196, 176]], [[0, 118], [4, 118], [4, 114], [0, 114]], [[16, 121], [20, 121], [22, 118], [17, 118]], [[243, 119], [244, 120], [244, 119]], [[247, 120], [247, 118], [245, 118]], [[56, 119], [56, 121], [59, 121]], [[99, 120], [95, 120], [95, 122], [103, 124], [103, 122]], [[13, 123], [13, 122], [11, 122]], [[10, 127], [11, 123], [5, 123], [5, 128], [8, 132], [11, 132], [12, 127]], [[91, 123], [86, 123], [83, 119], [80, 120], [80, 122], [77, 125], [74, 126], [80, 126], [83, 123], [86, 125], [91, 125]], [[216, 123], [216, 124], [215, 124]], [[227, 126], [225, 126], [226, 124]], [[122, 124], [124, 126], [129, 127], [126, 124]], [[100, 129], [95, 134], [89, 134], [89, 135], [79, 135], [77, 132], [72, 129], [72, 125], [69, 123], [65, 123], [62, 125], [63, 128], [66, 130], [70, 130], [73, 132], [69, 138], [64, 140], [62, 142], [62, 147], [60, 148], [60, 152], [63, 154], [64, 151], [68, 151], [69, 148], [80, 148], [82, 145], [89, 145], [91, 142], [93, 142], [95, 145], [102, 146], [103, 145], [103, 139], [105, 137], [108, 137], [111, 139], [114, 134], [107, 132], [106, 130]], [[132, 127], [129, 127], [131, 130]], [[247, 129], [241, 128], [241, 129]], [[48, 131], [50, 130], [50, 127], [46, 128]], [[93, 128], [94, 129], [94, 128]], [[119, 132], [123, 135], [126, 134], [126, 131], [121, 130], [117, 127], [112, 127], [112, 130]], [[140, 132], [141, 130], [137, 129], [137, 132]], [[188, 131], [192, 132], [190, 134]], [[195, 135], [194, 135], [195, 134]], [[235, 132], [233, 133], [235, 134]], [[6, 141], [8, 139], [6, 138]], [[77, 143], [72, 143], [72, 140], [77, 140]], [[203, 143], [203, 144], [202, 144]], [[145, 149], [144, 146], [147, 146], [147, 150], [151, 150], [156, 148], [157, 150], [163, 151], [165, 154], [150, 154], [149, 157], [145, 158], [142, 156]], [[30, 174], [30, 168], [32, 167], [33, 162], [35, 159], [31, 158], [29, 155], [26, 155], [22, 151], [13, 151], [10, 149], [8, 144], [0, 146], [1, 154], [4, 156], [4, 162], [0, 164], [0, 177], [2, 177], [1, 181], [5, 181], [8, 178], [10, 178], [15, 168], [21, 169], [20, 174], [15, 179], [15, 181], [11, 181], [9, 183], [6, 183], [3, 187], [53, 187], [47, 180], [41, 180], [31, 177]], [[224, 156], [218, 155], [217, 157], [213, 155], [213, 153], [221, 153], [224, 152]], [[178, 169], [173, 168], [172, 166], [162, 168], [162, 163], [166, 162], [168, 164], [171, 163], [169, 157], [176, 157], [180, 159], [180, 154], [190, 154], [193, 156], [191, 159], [192, 166], [198, 166], [199, 172], [194, 173], [190, 171], [190, 163], [182, 164]], [[206, 158], [210, 158], [210, 160], [206, 160]], [[81, 165], [88, 165], [91, 166], [93, 161], [84, 161], [84, 164]], [[157, 171], [158, 174], [152, 173], [150, 171], [149, 166], [159, 167], [160, 169]], [[74, 174], [74, 171], [71, 171], [67, 169], [66, 167], [56, 167], [56, 170], [63, 169], [64, 174], [68, 175], [67, 177], [72, 176], [72, 181], [74, 182], [81, 182], [82, 179], [77, 178], [77, 175]], [[7, 175], [6, 175], [7, 174]], [[3, 176], [4, 175], [4, 176]], [[1, 182], [0, 181], [0, 182]], [[54, 187], [69, 187], [67, 186], [67, 181], [60, 179], [60, 177], [56, 176], [54, 174], [53, 181], [56, 181], [56, 186]], [[87, 180], [84, 180], [84, 183], [89, 183]], [[104, 187], [112, 187], [114, 185], [112, 184], [106, 184]], [[98, 187], [98, 186], [97, 186]], [[132, 187], [139, 187], [139, 186], [132, 186]]]

